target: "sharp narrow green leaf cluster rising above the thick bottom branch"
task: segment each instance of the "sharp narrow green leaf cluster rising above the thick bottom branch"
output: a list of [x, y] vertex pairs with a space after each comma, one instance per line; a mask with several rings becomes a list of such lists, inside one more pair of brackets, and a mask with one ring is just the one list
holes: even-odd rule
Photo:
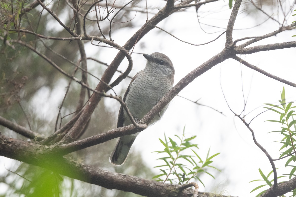
[[[174, 141], [172, 138], [167, 138], [166, 136], [164, 141], [159, 138], [160, 142], [164, 146], [164, 150], [155, 152], [165, 155], [164, 157], [160, 157], [158, 159], [162, 160], [164, 164], [155, 167], [160, 168], [160, 174], [154, 176], [153, 178], [160, 182], [178, 183], [180, 185], [189, 183], [192, 179], [197, 179], [200, 183], [202, 183], [200, 175], [204, 173], [215, 178], [207, 171], [207, 169], [214, 168], [218, 170], [210, 164], [213, 162], [212, 159], [220, 153], [209, 156], [209, 149], [205, 160], [202, 160], [196, 151], [198, 149], [198, 145], [192, 143], [192, 140], [196, 138], [196, 135], [190, 138], [185, 138], [185, 127], [183, 135], [181, 137], [175, 135], [175, 137], [177, 138], [177, 141]], [[188, 150], [193, 154], [186, 154]], [[202, 183], [202, 185], [204, 184]]]

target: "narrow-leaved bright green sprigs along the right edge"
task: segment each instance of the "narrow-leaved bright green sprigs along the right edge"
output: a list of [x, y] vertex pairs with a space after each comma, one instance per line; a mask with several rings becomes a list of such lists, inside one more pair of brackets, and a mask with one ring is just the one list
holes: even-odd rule
[[[295, 135], [296, 135], [296, 120], [294, 120], [295, 114], [295, 108], [296, 106], [293, 105], [293, 102], [286, 102], [286, 94], [285, 94], [285, 87], [283, 87], [283, 90], [281, 92], [281, 99], [279, 100], [279, 105], [274, 104], [265, 104], [268, 105], [268, 107], [264, 107], [268, 110], [271, 110], [277, 114], [279, 114], [279, 120], [266, 120], [266, 122], [277, 122], [281, 124], [281, 130], [271, 131], [269, 133], [280, 133], [282, 135], [282, 140], [278, 141], [282, 144], [280, 151], [281, 155], [279, 156], [280, 159], [285, 159], [286, 164], [285, 167], [287, 169], [290, 169], [290, 172], [288, 174], [284, 174], [283, 176], [279, 176], [278, 178], [285, 177], [285, 175], [288, 175], [289, 180], [291, 180], [293, 177], [295, 177], [295, 171], [296, 171], [296, 148], [295, 148]], [[292, 162], [292, 163], [291, 163]], [[274, 179], [269, 180], [269, 176], [273, 174], [273, 171], [269, 172], [268, 175], [264, 175], [262, 170], [259, 168], [259, 172], [263, 180], [252, 180], [254, 181], [264, 181], [265, 183], [263, 185], [257, 186], [255, 189], [253, 189], [251, 192], [258, 190], [259, 188], [262, 188], [264, 186], [271, 187], [273, 185]], [[272, 176], [274, 177], [274, 176]], [[267, 190], [267, 189], [266, 189]], [[262, 192], [258, 193], [258, 196], [263, 194], [266, 190], [263, 190]], [[291, 196], [296, 196], [296, 189], [292, 191]]]

